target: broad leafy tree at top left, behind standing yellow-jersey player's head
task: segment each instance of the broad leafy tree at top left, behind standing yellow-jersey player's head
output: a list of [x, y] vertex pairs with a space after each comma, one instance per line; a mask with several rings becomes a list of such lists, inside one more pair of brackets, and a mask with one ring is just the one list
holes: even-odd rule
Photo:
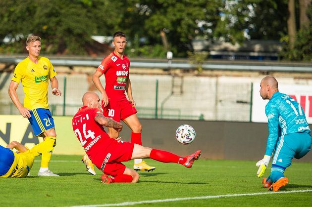
[[10, 38], [2, 48], [22, 52], [26, 37], [34, 34], [42, 38], [45, 53], [86, 54], [92, 35], [111, 35], [119, 25], [120, 5], [107, 0], [0, 1], [0, 39]]

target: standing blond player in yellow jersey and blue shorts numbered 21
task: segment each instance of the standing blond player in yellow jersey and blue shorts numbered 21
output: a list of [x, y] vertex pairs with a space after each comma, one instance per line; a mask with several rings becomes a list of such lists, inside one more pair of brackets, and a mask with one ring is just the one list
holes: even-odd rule
[[[28, 119], [35, 136], [42, 136], [46, 142], [38, 175], [58, 176], [49, 170], [53, 147], [56, 144], [55, 126], [48, 103], [49, 80], [53, 95], [61, 95], [61, 91], [58, 89], [56, 72], [52, 63], [48, 58], [39, 56], [41, 50], [40, 37], [29, 36], [26, 41], [26, 49], [28, 50], [28, 57], [17, 64], [8, 93], [20, 114]], [[24, 106], [16, 93], [20, 82], [25, 93]]]

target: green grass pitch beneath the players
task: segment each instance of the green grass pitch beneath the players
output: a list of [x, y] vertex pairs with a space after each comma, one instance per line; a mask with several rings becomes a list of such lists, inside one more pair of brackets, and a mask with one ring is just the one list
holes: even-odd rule
[[[50, 169], [60, 177], [38, 177], [40, 157], [26, 178], [0, 179], [1, 207], [71, 206], [311, 206], [312, 163], [293, 163], [285, 175], [289, 184], [268, 192], [257, 177], [255, 161], [195, 161], [193, 168], [163, 164], [139, 172], [139, 183], [101, 183], [100, 170], [91, 175], [81, 156], [53, 155]], [[128, 167], [133, 161], [125, 163]], [[265, 176], [269, 174], [267, 169]]]

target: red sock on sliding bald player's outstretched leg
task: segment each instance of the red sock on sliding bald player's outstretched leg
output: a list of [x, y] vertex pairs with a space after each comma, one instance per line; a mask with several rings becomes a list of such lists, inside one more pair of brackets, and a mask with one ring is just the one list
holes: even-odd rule
[[153, 149], [150, 158], [162, 163], [178, 163], [183, 165], [186, 162], [185, 157], [177, 156], [171, 152]]

